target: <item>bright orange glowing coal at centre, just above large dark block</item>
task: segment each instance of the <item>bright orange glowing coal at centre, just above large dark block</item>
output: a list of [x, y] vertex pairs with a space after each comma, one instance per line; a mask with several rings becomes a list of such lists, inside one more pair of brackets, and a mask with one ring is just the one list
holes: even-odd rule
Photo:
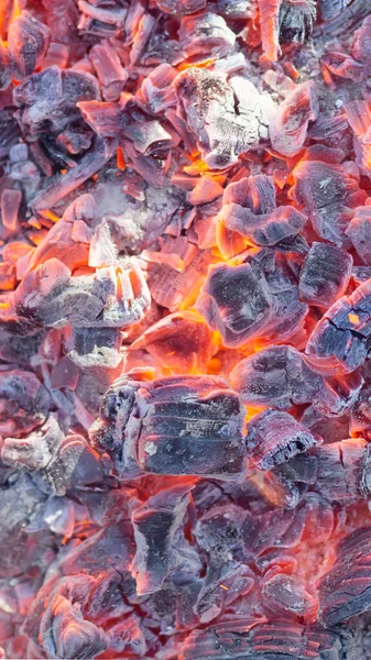
[[130, 350], [145, 349], [172, 373], [200, 373], [217, 352], [212, 333], [194, 311], [170, 315], [151, 326]]

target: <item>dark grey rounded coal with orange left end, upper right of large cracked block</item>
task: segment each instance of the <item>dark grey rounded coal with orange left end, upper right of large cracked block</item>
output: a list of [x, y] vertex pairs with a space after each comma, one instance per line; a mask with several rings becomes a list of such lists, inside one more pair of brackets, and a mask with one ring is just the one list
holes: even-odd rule
[[239, 362], [230, 384], [247, 405], [288, 410], [310, 403], [323, 389], [323, 378], [293, 346], [269, 346]]

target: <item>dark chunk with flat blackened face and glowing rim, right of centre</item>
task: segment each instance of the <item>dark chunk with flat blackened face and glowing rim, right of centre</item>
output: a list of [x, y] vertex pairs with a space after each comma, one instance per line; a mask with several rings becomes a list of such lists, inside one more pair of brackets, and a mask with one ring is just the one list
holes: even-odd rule
[[221, 333], [223, 345], [232, 348], [263, 329], [271, 316], [270, 302], [250, 264], [218, 264], [209, 268], [196, 307], [208, 327]]

